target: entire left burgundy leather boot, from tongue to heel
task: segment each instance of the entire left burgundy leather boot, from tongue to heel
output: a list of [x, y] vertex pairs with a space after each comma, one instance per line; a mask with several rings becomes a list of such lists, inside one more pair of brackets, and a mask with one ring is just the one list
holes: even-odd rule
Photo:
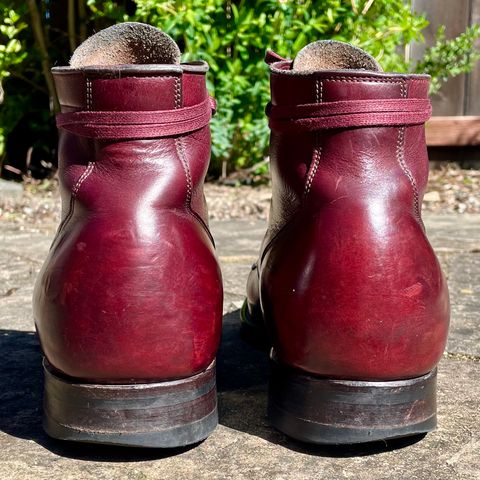
[[125, 23], [53, 69], [63, 212], [34, 316], [59, 439], [174, 447], [217, 424], [212, 101], [207, 64], [179, 58], [167, 35]]

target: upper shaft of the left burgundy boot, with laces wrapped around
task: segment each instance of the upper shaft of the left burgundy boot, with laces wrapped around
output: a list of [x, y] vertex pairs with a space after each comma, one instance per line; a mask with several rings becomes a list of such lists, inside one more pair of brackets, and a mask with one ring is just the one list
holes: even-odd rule
[[73, 194], [86, 208], [126, 216], [139, 202], [191, 208], [206, 223], [207, 69], [203, 62], [55, 68], [64, 203]]

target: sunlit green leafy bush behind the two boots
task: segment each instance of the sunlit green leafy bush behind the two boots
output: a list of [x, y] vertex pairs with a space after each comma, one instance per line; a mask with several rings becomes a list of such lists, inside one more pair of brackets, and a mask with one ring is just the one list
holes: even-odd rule
[[[84, 1], [76, 3], [81, 6]], [[0, 5], [7, 3], [10, 9], [20, 5], [0, 0]], [[41, 3], [46, 17], [48, 10]], [[87, 0], [86, 6], [86, 22], [76, 21], [79, 32], [82, 26], [91, 31], [118, 21], [142, 21], [171, 35], [185, 52], [185, 61], [202, 58], [210, 64], [208, 87], [219, 104], [212, 121], [214, 175], [220, 174], [222, 166], [229, 171], [251, 166], [267, 154], [266, 48], [293, 57], [311, 41], [342, 40], [368, 51], [386, 71], [430, 73], [434, 90], [449, 76], [471, 70], [478, 59], [474, 45], [480, 29], [474, 26], [453, 40], [446, 40], [440, 31], [437, 44], [427, 49], [424, 59], [408, 64], [402, 48], [423, 40], [421, 32], [428, 21], [412, 12], [410, 2], [404, 0]], [[67, 37], [65, 32], [57, 36], [58, 55], [52, 53], [52, 62], [64, 62], [69, 56]], [[72, 41], [72, 31], [69, 38]], [[26, 35], [24, 44], [23, 52], [31, 56], [31, 37]], [[38, 74], [35, 81], [44, 84]], [[6, 87], [8, 95], [13, 95], [9, 82]]]

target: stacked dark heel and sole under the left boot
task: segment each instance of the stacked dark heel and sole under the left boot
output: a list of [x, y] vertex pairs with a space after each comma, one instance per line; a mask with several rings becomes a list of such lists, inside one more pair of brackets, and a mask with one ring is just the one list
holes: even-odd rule
[[193, 377], [100, 385], [58, 375], [44, 361], [43, 426], [60, 440], [174, 448], [198, 443], [218, 424], [215, 361]]

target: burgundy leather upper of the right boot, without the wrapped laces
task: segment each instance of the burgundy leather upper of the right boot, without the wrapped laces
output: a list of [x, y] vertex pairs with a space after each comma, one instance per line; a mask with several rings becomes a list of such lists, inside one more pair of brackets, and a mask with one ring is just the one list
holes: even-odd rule
[[[290, 66], [271, 66], [273, 105], [428, 94], [427, 76]], [[330, 378], [434, 368], [449, 300], [420, 218], [424, 126], [272, 132], [270, 159], [270, 226], [247, 298], [250, 313], [261, 306], [276, 357]]]

